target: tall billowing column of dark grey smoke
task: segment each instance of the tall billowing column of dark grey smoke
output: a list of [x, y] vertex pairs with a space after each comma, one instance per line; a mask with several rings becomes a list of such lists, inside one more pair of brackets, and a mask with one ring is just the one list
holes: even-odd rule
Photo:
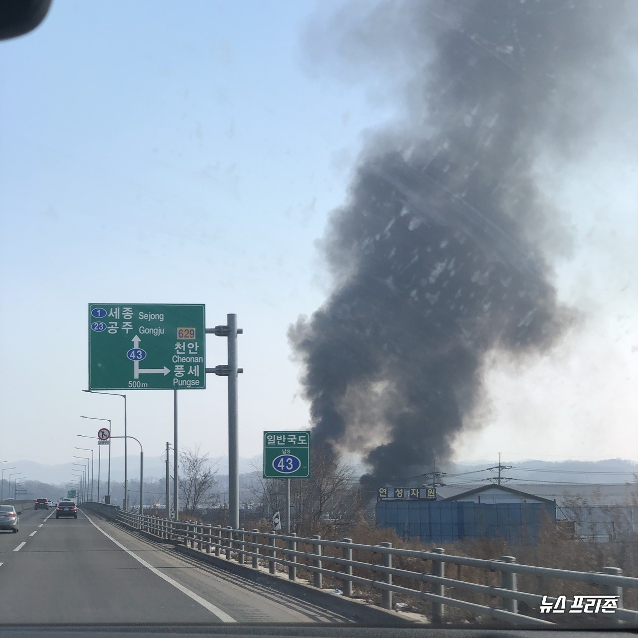
[[410, 118], [362, 157], [322, 243], [334, 289], [288, 338], [313, 441], [365, 452], [374, 484], [450, 457], [488, 355], [546, 352], [572, 322], [535, 162], [578, 152], [624, 6], [417, 0], [332, 24], [343, 56], [401, 59]]

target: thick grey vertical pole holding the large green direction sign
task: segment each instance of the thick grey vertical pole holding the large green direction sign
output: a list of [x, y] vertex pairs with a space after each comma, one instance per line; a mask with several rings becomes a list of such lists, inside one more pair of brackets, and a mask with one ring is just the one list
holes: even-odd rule
[[237, 315], [228, 315], [228, 521], [239, 528], [239, 442], [237, 434]]

